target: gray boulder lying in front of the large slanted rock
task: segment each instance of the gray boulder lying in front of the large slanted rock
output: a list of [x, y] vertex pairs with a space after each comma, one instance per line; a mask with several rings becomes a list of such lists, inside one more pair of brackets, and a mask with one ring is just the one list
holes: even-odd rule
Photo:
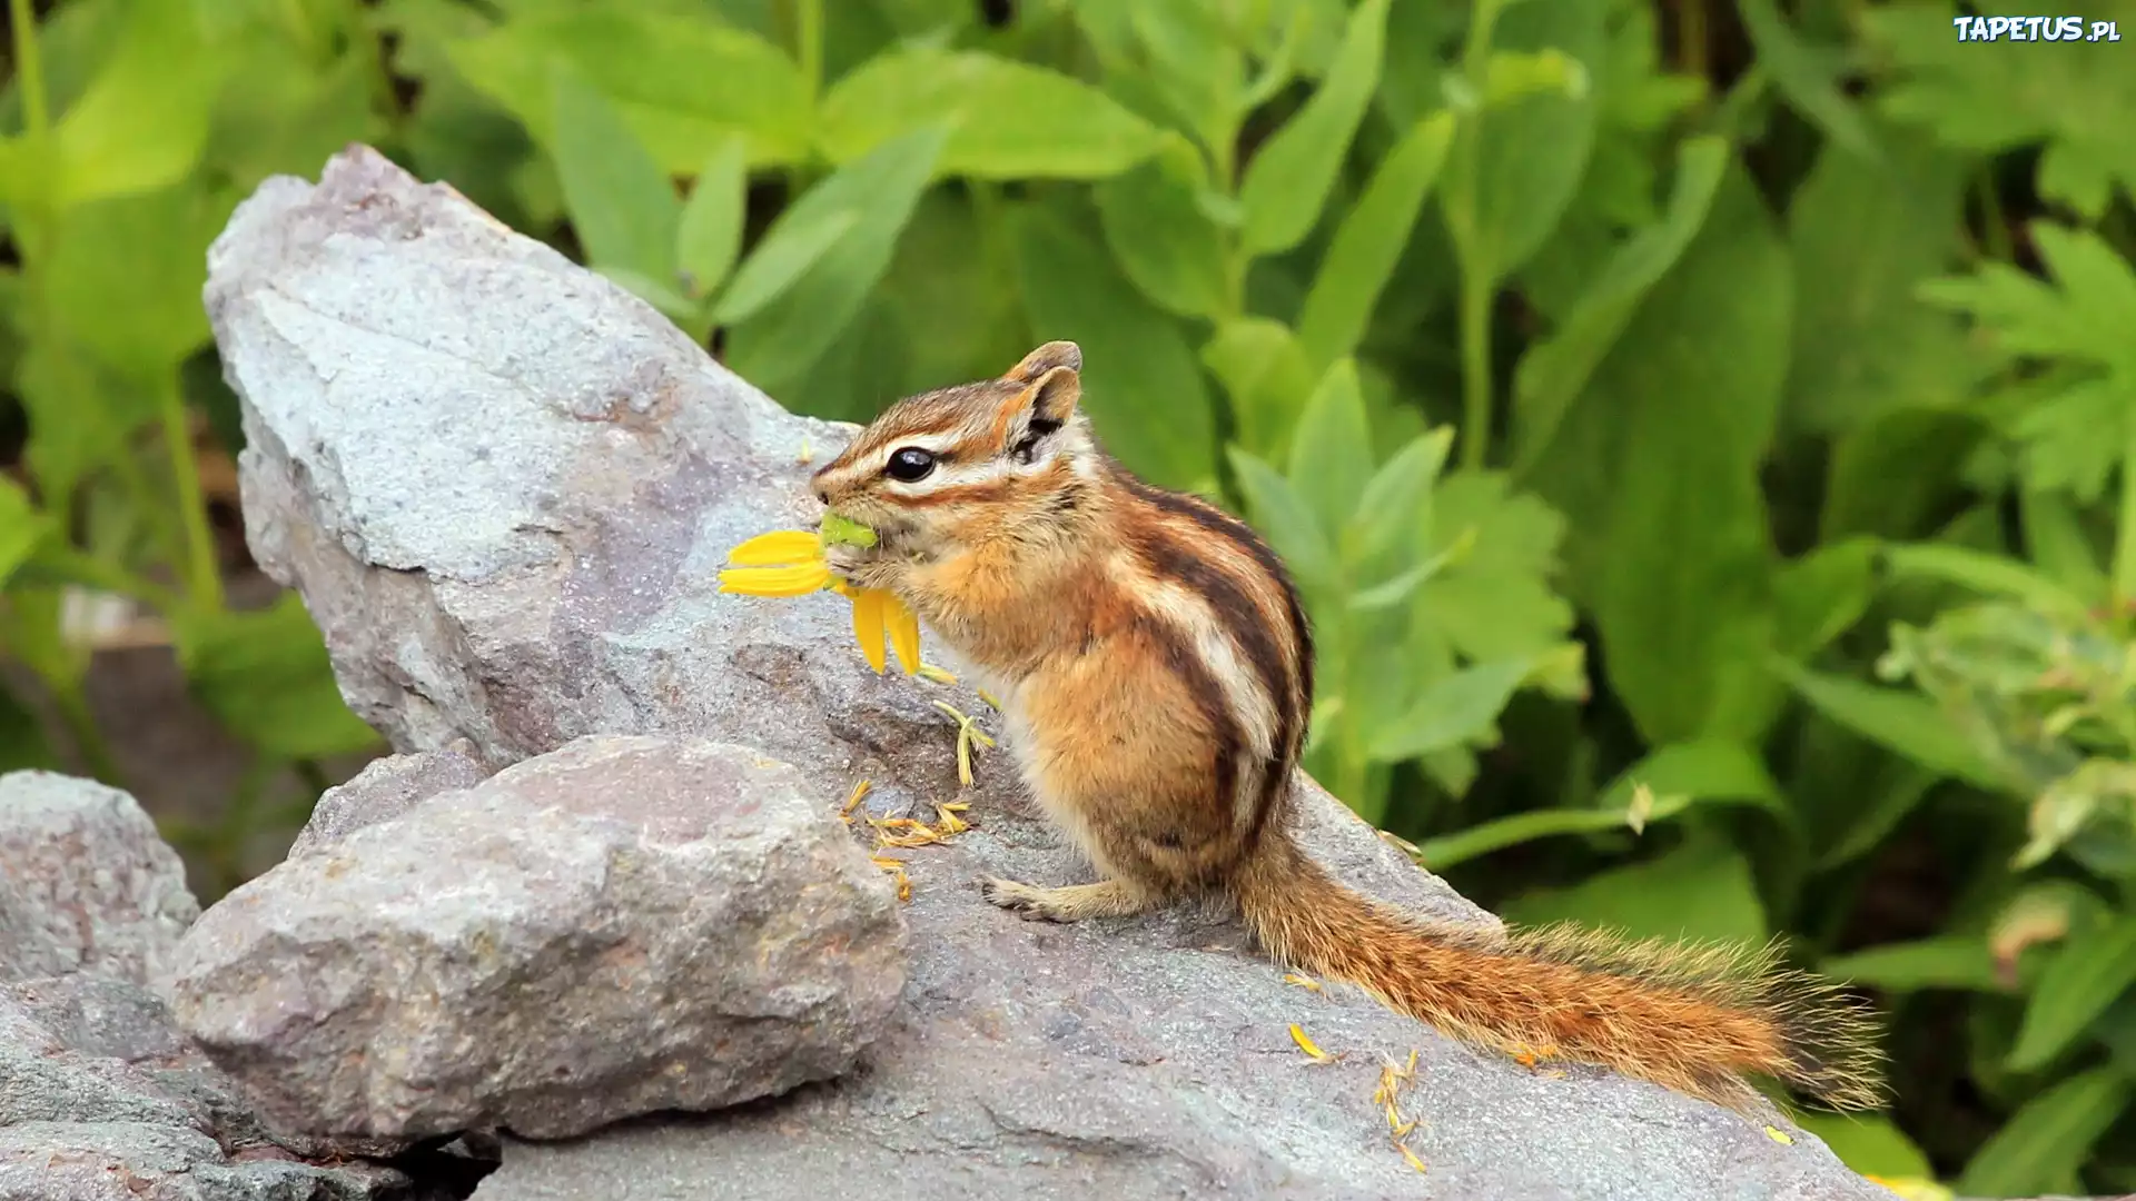
[[852, 1066], [904, 987], [895, 889], [835, 806], [737, 746], [583, 737], [246, 883], [179, 945], [171, 1009], [318, 1135], [786, 1092]]

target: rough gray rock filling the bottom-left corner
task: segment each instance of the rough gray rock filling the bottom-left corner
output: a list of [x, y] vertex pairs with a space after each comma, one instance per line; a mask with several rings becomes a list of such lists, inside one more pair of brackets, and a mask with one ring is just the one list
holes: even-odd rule
[[85, 972], [0, 985], [0, 1201], [384, 1201], [412, 1184], [297, 1150], [258, 1128], [141, 985]]

